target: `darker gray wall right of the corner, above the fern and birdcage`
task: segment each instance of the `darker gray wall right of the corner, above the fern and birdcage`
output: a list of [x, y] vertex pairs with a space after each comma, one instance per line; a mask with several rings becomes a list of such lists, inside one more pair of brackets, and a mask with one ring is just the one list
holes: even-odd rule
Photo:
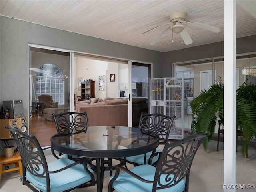
[[[236, 54], [256, 51], [256, 35], [236, 39]], [[172, 63], [223, 57], [224, 42], [216, 42], [163, 53], [163, 77], [172, 76]]]

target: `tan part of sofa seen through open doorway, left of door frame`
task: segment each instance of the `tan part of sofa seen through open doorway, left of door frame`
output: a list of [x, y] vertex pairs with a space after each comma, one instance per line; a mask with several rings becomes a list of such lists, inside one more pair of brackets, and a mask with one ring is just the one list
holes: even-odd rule
[[76, 110], [87, 113], [89, 126], [128, 126], [126, 98], [90, 98], [76, 102]]

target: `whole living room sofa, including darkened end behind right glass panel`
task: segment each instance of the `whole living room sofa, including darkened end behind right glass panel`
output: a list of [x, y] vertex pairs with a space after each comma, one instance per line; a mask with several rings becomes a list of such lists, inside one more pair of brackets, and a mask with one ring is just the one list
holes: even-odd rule
[[[138, 126], [141, 112], [148, 112], [147, 98], [132, 98], [132, 123]], [[90, 98], [76, 102], [78, 112], [86, 112], [89, 126], [128, 126], [127, 98]]]

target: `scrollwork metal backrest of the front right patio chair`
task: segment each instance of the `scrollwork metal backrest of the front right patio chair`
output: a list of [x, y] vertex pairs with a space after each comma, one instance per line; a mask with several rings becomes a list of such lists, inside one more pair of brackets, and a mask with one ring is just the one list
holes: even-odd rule
[[174, 186], [185, 177], [186, 191], [188, 191], [192, 161], [200, 144], [208, 135], [210, 132], [205, 132], [202, 135], [191, 135], [173, 143], [166, 142], [156, 166], [153, 191]]

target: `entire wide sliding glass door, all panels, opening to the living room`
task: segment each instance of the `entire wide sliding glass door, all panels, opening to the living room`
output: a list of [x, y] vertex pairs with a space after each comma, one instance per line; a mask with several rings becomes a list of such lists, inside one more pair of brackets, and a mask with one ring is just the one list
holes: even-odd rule
[[73, 96], [81, 95], [82, 81], [95, 81], [95, 97], [102, 100], [129, 98], [129, 126], [138, 126], [141, 112], [150, 111], [150, 64], [36, 46], [29, 47], [29, 58], [29, 133], [42, 146], [56, 133], [52, 114], [75, 110]]

